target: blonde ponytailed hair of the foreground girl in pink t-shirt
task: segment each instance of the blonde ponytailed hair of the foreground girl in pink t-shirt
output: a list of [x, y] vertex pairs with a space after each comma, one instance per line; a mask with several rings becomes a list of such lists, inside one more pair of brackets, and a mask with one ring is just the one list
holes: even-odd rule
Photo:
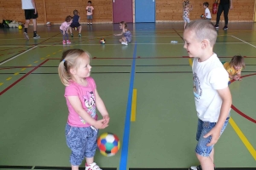
[[77, 69], [79, 67], [79, 59], [81, 59], [82, 54], [87, 54], [90, 58], [90, 54], [82, 49], [68, 49], [63, 52], [58, 72], [64, 86], [68, 86], [72, 80], [70, 69]]

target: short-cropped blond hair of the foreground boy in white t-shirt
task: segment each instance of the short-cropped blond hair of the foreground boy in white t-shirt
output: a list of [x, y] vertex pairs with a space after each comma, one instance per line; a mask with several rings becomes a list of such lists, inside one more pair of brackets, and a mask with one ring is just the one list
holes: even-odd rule
[[189, 22], [185, 30], [195, 31], [195, 36], [200, 41], [208, 39], [212, 47], [218, 36], [216, 28], [210, 20], [193, 20]]

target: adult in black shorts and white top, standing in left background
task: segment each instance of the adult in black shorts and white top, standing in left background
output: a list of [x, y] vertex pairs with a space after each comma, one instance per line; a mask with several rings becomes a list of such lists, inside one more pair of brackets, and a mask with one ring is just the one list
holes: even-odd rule
[[21, 3], [22, 3], [22, 9], [24, 9], [24, 12], [25, 12], [25, 19], [26, 19], [26, 23], [24, 26], [24, 37], [26, 39], [29, 39], [29, 37], [27, 35], [27, 27], [29, 25], [30, 20], [32, 20], [33, 28], [34, 28], [33, 38], [40, 37], [40, 36], [38, 36], [38, 33], [37, 33], [38, 10], [37, 10], [35, 1], [34, 0], [21, 0]]

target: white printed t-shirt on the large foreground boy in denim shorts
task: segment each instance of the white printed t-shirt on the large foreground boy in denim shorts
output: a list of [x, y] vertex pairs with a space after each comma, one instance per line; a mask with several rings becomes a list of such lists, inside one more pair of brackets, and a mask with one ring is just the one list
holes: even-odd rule
[[195, 58], [192, 65], [195, 108], [197, 116], [204, 122], [218, 122], [222, 99], [218, 89], [228, 87], [229, 74], [217, 54], [203, 62]]

